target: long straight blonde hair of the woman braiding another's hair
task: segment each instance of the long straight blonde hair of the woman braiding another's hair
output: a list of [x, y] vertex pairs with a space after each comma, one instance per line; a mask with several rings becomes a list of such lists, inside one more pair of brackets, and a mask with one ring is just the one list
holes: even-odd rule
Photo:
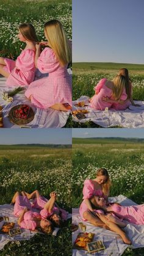
[[59, 20], [50, 20], [44, 27], [48, 44], [54, 50], [60, 65], [67, 65], [71, 62], [71, 48], [62, 23]]

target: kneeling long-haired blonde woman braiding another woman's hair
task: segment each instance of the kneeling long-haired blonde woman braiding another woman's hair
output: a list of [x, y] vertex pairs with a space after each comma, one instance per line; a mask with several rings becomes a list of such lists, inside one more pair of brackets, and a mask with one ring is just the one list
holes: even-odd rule
[[52, 108], [60, 111], [71, 109], [71, 76], [67, 66], [71, 62], [71, 46], [62, 24], [58, 20], [45, 23], [45, 49], [40, 53], [36, 45], [35, 66], [49, 76], [31, 83], [26, 97], [38, 108]]

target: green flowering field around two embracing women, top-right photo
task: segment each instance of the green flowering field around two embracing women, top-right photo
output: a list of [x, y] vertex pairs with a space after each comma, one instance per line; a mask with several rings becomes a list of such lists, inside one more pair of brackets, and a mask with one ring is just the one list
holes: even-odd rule
[[[92, 97], [93, 87], [102, 78], [113, 79], [120, 68], [128, 68], [129, 76], [132, 80], [132, 90], [134, 100], [144, 100], [144, 65], [140, 64], [120, 64], [120, 63], [98, 63], [85, 62], [73, 63], [73, 100], [77, 100], [82, 95]], [[92, 122], [73, 122], [74, 128], [92, 127], [99, 128]]]

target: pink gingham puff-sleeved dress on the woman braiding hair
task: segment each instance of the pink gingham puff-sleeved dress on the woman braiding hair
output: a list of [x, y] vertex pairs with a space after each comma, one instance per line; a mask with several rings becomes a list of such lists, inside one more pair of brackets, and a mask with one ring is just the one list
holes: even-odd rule
[[72, 106], [72, 81], [67, 65], [61, 67], [54, 51], [46, 47], [38, 57], [37, 67], [41, 73], [49, 73], [49, 76], [32, 82], [26, 90], [25, 95], [27, 98], [31, 96], [34, 106], [42, 109], [56, 103]]

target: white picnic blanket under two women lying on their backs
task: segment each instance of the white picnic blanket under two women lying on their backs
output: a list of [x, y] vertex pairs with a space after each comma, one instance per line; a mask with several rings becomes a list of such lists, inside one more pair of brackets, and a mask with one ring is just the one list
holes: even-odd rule
[[[35, 211], [37, 211], [35, 209]], [[9, 217], [10, 222], [15, 222], [15, 227], [19, 227], [17, 224], [18, 218], [16, 218], [13, 215], [13, 205], [5, 204], [5, 205], [0, 205], [0, 216], [7, 216]], [[67, 219], [71, 218], [71, 214], [68, 213]], [[2, 225], [4, 224], [5, 221], [0, 222], [0, 229]], [[0, 233], [0, 251], [1, 249], [4, 248], [5, 244], [9, 243], [9, 241], [15, 241], [15, 240], [30, 240], [32, 236], [35, 235], [37, 232], [32, 232], [28, 229], [21, 229], [21, 234], [15, 235], [15, 236], [10, 236], [10, 235], [4, 235]], [[53, 236], [57, 235], [57, 232], [59, 231], [59, 228], [54, 228], [54, 231], [52, 232]], [[41, 232], [38, 232], [41, 233]]]

